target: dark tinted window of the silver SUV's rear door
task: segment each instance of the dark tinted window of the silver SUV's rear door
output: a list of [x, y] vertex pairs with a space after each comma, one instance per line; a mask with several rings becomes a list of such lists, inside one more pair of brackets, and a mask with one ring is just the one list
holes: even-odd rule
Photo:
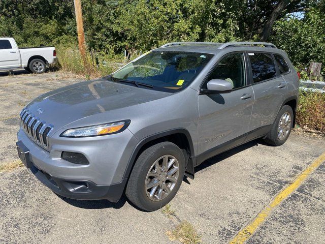
[[253, 83], [276, 77], [271, 53], [248, 53], [253, 72]]

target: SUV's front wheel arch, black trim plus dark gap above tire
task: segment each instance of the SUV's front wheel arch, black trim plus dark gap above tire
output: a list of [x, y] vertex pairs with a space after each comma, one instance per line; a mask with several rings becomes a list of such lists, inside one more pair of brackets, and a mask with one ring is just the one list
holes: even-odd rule
[[193, 141], [189, 132], [186, 129], [178, 128], [159, 132], [157, 134], [150, 135], [142, 139], [135, 149], [133, 150], [132, 156], [130, 157], [127, 167], [125, 169], [123, 179], [128, 178], [132, 172], [132, 169], [137, 161], [139, 155], [148, 147], [163, 141], [170, 141], [175, 143], [181, 148], [185, 157], [185, 175], [189, 178], [194, 178], [194, 146]]

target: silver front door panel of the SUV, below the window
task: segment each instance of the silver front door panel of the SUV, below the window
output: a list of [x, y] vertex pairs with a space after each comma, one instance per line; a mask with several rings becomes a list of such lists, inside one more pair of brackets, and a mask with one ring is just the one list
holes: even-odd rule
[[[240, 99], [251, 94], [248, 99]], [[245, 135], [254, 103], [253, 89], [247, 87], [231, 93], [199, 96], [198, 154]], [[243, 137], [243, 141], [244, 141]]]

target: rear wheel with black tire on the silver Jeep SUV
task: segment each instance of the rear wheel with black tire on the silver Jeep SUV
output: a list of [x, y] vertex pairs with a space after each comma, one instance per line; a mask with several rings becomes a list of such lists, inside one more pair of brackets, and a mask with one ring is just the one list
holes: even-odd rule
[[[289, 117], [287, 115], [289, 115]], [[290, 106], [284, 105], [276, 116], [272, 129], [268, 133], [267, 138], [264, 139], [265, 142], [274, 146], [282, 145], [288, 139], [293, 125], [294, 111]]]

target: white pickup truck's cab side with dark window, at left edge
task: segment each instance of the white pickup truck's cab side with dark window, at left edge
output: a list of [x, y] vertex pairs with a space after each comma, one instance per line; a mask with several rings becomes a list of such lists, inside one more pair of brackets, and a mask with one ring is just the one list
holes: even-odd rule
[[13, 41], [0, 39], [0, 68], [20, 67], [19, 50]]

